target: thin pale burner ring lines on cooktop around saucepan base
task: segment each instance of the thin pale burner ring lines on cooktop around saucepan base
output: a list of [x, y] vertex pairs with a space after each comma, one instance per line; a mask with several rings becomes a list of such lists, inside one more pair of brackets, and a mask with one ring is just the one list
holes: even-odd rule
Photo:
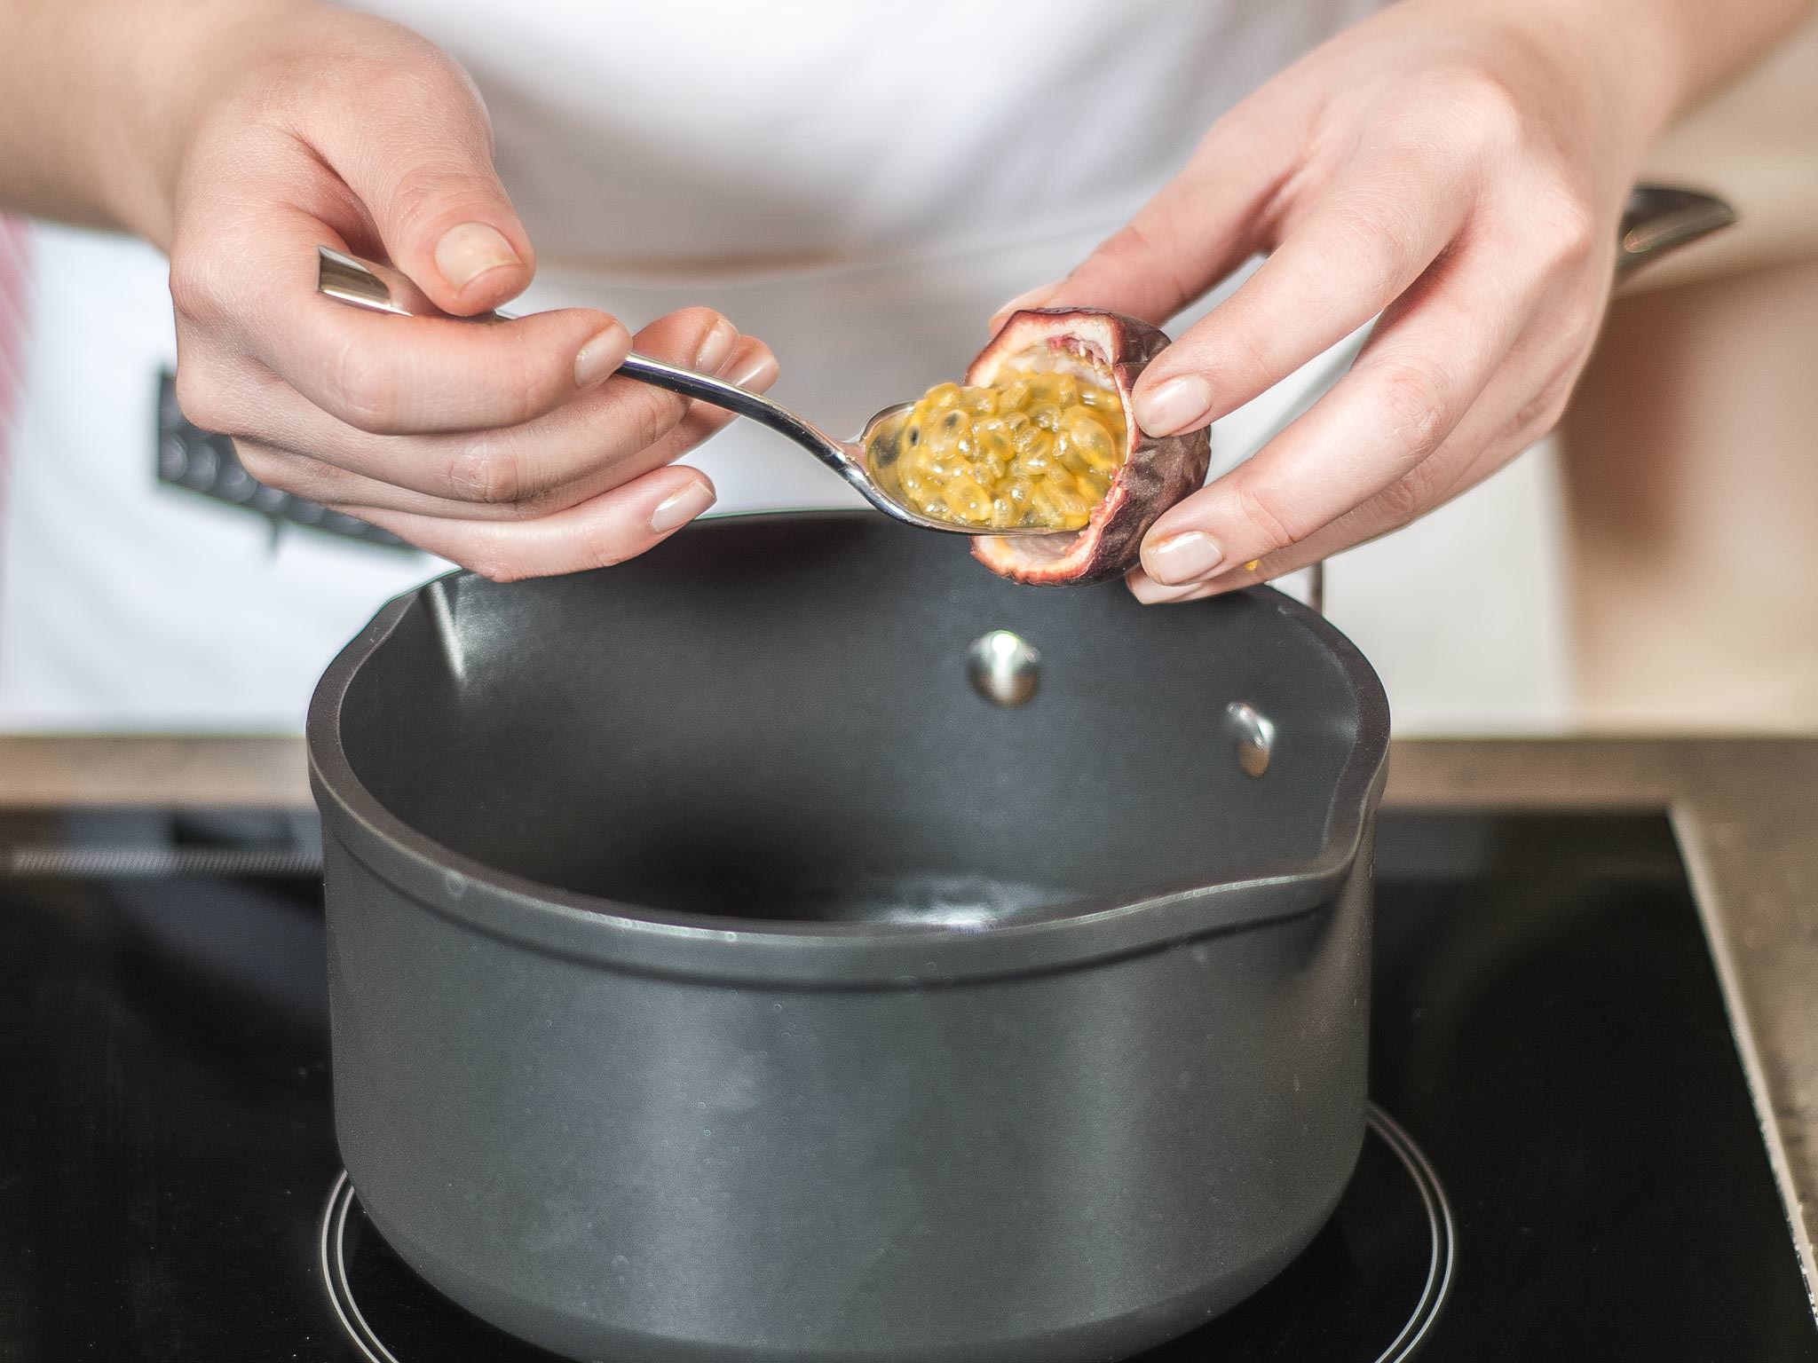
[[[1433, 1165], [1427, 1161], [1427, 1156], [1414, 1143], [1414, 1138], [1374, 1103], [1369, 1103], [1365, 1109], [1365, 1123], [1376, 1139], [1380, 1139], [1407, 1170], [1407, 1176], [1414, 1183], [1414, 1190], [1420, 1194], [1420, 1201], [1427, 1212], [1431, 1247], [1425, 1285], [1422, 1287], [1402, 1332], [1396, 1334], [1396, 1338], [1389, 1341], [1389, 1347], [1371, 1361], [1405, 1363], [1405, 1359], [1413, 1358], [1414, 1350], [1418, 1350], [1422, 1341], [1427, 1338], [1427, 1330], [1433, 1328], [1433, 1321], [1438, 1319], [1440, 1308], [1445, 1305], [1445, 1296], [1451, 1292], [1453, 1267], [1458, 1259], [1456, 1223], [1453, 1219], [1453, 1207], [1445, 1199], [1445, 1189], [1440, 1185], [1438, 1174], [1433, 1172]], [[360, 1358], [364, 1358], [365, 1363], [405, 1363], [385, 1347], [385, 1341], [380, 1339], [378, 1332], [365, 1319], [365, 1312], [360, 1310], [360, 1303], [355, 1299], [353, 1281], [347, 1276], [347, 1218], [353, 1212], [356, 1198], [358, 1194], [353, 1181], [347, 1178], [347, 1170], [344, 1169], [335, 1179], [335, 1187], [329, 1189], [327, 1207], [322, 1210], [322, 1281], [327, 1290], [329, 1305], [335, 1308], [335, 1318], [340, 1321], [342, 1330], [347, 1334], [353, 1347], [360, 1350]]]

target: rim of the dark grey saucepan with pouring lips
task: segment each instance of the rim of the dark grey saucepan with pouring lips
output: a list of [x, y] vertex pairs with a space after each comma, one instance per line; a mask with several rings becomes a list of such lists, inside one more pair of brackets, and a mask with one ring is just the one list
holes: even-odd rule
[[[856, 523], [869, 520], [869, 512], [720, 516], [687, 534], [713, 534], [714, 525], [753, 520]], [[1309, 631], [1338, 662], [1356, 707], [1356, 740], [1333, 785], [1320, 851], [1311, 858], [1258, 867], [1242, 880], [1140, 900], [1073, 901], [1056, 905], [1053, 914], [982, 929], [676, 914], [567, 890], [485, 865], [411, 827], [367, 789], [342, 743], [342, 707], [360, 669], [435, 583], [467, 576], [473, 574], [447, 572], [391, 598], [316, 683], [305, 747], [324, 836], [436, 914], [493, 938], [580, 961], [725, 983], [922, 987], [1045, 972], [1133, 954], [1280, 921], [1329, 903], [1353, 872], [1383, 783], [1389, 701], [1376, 672], [1320, 612], [1273, 587], [1251, 587], [1247, 594], [1265, 600], [1278, 614]], [[331, 894], [333, 881], [331, 860]]]

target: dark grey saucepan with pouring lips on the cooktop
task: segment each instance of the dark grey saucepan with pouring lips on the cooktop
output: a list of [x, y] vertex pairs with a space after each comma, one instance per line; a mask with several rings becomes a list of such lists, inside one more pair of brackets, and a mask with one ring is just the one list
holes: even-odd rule
[[309, 714], [360, 1198], [574, 1358], [1180, 1334], [1356, 1158], [1387, 727], [1273, 591], [1013, 587], [871, 514], [431, 583]]

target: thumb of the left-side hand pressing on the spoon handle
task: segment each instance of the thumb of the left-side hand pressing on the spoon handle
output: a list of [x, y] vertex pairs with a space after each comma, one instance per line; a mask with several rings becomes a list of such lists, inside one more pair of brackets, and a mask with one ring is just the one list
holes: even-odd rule
[[393, 265], [444, 313], [485, 313], [531, 282], [531, 238], [493, 169], [493, 124], [473, 80], [429, 44], [413, 56], [422, 69], [387, 82], [391, 105], [367, 104], [356, 140], [322, 151]]

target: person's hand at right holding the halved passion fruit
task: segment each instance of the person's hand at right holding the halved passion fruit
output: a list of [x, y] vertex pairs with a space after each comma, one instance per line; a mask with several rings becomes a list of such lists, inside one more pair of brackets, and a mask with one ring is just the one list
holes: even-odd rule
[[1558, 420], [1669, 104], [1600, 11], [1405, 0], [1262, 85], [1071, 276], [1002, 309], [1160, 323], [1269, 251], [1142, 374], [1136, 418], [1158, 436], [1382, 313], [1331, 393], [1156, 522], [1140, 600], [1247, 587], [1405, 525]]

